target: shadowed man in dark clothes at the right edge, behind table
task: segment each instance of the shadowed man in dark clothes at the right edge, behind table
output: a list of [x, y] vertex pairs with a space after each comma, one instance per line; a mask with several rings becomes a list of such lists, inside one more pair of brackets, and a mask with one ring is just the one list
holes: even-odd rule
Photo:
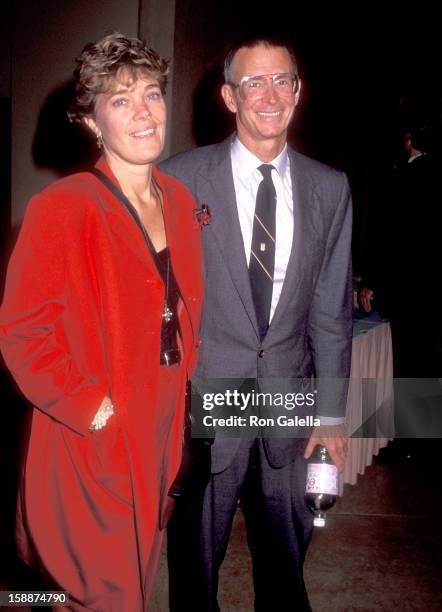
[[405, 156], [379, 197], [382, 210], [370, 232], [375, 249], [359, 290], [363, 310], [374, 303], [390, 320], [394, 449], [422, 465], [434, 460], [439, 449], [429, 438], [442, 427], [441, 164], [431, 140], [425, 123], [403, 129]]

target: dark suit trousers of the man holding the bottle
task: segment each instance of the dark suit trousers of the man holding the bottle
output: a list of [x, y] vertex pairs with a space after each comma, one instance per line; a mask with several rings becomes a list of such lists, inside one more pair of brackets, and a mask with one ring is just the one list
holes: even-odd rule
[[229, 467], [212, 475], [204, 497], [179, 501], [168, 529], [172, 612], [219, 610], [218, 572], [239, 499], [253, 560], [255, 610], [310, 610], [302, 570], [312, 532], [305, 475], [301, 454], [275, 469], [262, 440], [245, 438]]

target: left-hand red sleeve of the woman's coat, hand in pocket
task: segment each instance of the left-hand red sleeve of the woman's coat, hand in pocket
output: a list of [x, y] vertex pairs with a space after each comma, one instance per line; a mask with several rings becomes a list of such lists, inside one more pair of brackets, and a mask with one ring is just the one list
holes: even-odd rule
[[77, 325], [77, 305], [84, 313], [92, 280], [80, 263], [81, 228], [78, 215], [66, 214], [58, 202], [44, 195], [31, 200], [8, 267], [0, 344], [27, 399], [85, 434], [108, 384], [101, 347], [93, 333], [84, 337], [94, 316], [84, 327]]

